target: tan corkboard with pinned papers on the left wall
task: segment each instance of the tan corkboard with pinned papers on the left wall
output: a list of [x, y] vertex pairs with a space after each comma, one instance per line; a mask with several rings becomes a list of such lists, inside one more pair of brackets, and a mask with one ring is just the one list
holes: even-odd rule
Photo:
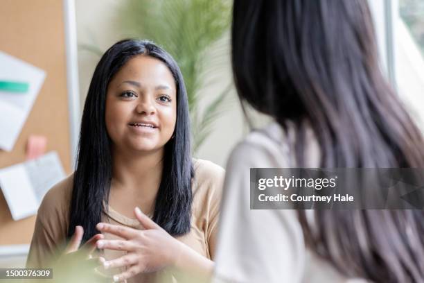
[[[1, 0], [0, 50], [44, 69], [46, 80], [11, 152], [0, 150], [0, 168], [26, 160], [29, 135], [44, 135], [70, 173], [70, 133], [64, 11], [60, 0]], [[0, 192], [0, 245], [30, 243], [35, 216], [13, 221]]]

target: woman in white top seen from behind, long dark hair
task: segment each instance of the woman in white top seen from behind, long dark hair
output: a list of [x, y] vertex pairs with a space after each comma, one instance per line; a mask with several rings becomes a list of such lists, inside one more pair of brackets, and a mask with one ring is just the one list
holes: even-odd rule
[[424, 168], [423, 136], [376, 50], [366, 0], [234, 1], [238, 95], [274, 122], [229, 158], [217, 277], [424, 282], [422, 210], [249, 209], [251, 167]]

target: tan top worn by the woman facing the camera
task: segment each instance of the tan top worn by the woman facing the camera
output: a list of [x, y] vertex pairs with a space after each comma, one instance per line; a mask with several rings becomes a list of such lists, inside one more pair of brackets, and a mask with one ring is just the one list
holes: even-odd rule
[[[192, 182], [191, 231], [176, 239], [186, 243], [200, 255], [213, 259], [224, 169], [206, 160], [193, 160], [193, 163], [195, 178]], [[70, 175], [51, 188], [44, 196], [38, 209], [27, 266], [47, 268], [52, 258], [54, 259], [60, 254], [59, 250], [64, 246], [67, 237], [72, 187], [73, 175]], [[103, 212], [102, 221], [141, 230], [141, 225], [135, 218], [119, 214], [112, 207], [109, 207], [109, 212]], [[105, 233], [105, 239], [119, 239], [119, 237]], [[109, 260], [120, 257], [124, 253], [123, 251], [105, 250], [103, 256]], [[119, 271], [115, 269], [110, 273], [117, 274]], [[154, 273], [139, 274], [128, 282], [152, 282], [155, 276], [157, 274]], [[164, 275], [161, 274], [161, 276]]]

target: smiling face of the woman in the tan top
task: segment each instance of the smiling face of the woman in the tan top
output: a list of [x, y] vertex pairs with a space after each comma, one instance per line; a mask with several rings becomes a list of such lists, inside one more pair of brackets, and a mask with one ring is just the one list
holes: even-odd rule
[[155, 58], [130, 59], [107, 86], [106, 128], [118, 151], [161, 150], [177, 121], [177, 90], [168, 67]]

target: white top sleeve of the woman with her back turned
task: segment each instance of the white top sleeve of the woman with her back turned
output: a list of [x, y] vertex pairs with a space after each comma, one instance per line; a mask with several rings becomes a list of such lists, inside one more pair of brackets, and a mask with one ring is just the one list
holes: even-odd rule
[[[250, 168], [275, 166], [265, 149], [240, 144], [227, 163], [215, 282], [301, 282], [305, 246], [293, 210], [250, 209]], [[281, 162], [279, 162], [281, 164]]]

